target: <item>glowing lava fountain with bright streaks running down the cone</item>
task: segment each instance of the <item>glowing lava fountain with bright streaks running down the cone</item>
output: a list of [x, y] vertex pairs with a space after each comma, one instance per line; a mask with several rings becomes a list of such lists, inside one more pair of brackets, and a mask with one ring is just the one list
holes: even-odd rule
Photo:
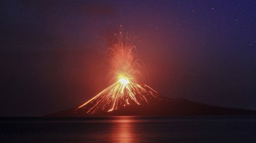
[[[121, 26], [120, 26], [121, 27]], [[149, 104], [159, 95], [145, 84], [144, 64], [138, 58], [134, 41], [137, 37], [123, 39], [122, 30], [113, 37], [112, 46], [106, 50], [104, 64], [112, 82], [92, 99], [76, 108], [89, 114], [110, 112], [130, 105]], [[113, 83], [114, 82], [114, 83]]]

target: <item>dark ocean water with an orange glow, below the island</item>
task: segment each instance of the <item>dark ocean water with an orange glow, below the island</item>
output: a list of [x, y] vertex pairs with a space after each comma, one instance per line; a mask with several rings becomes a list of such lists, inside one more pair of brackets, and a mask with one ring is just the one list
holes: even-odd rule
[[0, 142], [256, 142], [255, 116], [0, 118]]

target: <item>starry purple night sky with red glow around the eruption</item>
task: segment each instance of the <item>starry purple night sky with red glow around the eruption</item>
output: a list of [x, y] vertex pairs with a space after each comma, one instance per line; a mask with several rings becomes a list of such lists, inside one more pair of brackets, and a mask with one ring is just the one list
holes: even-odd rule
[[4, 1], [0, 116], [68, 109], [106, 88], [119, 25], [138, 36], [160, 95], [256, 109], [256, 1]]

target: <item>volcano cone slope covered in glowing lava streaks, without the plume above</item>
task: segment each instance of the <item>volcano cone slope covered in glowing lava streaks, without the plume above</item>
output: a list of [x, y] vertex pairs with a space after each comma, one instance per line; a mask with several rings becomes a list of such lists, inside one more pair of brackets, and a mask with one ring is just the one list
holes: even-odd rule
[[156, 91], [146, 84], [133, 82], [125, 84], [124, 81], [118, 81], [76, 108], [75, 112], [87, 112], [93, 115], [113, 112], [118, 109], [129, 108], [129, 106], [151, 104], [155, 100], [161, 100], [161, 98]]

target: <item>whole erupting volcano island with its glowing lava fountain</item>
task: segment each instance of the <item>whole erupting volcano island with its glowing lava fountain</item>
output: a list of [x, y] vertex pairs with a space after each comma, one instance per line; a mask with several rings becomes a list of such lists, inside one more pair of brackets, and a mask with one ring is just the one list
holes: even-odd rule
[[230, 109], [195, 103], [186, 99], [169, 99], [160, 96], [146, 85], [145, 67], [138, 58], [137, 37], [128, 34], [123, 38], [115, 34], [105, 52], [105, 75], [108, 88], [75, 108], [49, 116], [170, 116], [170, 115], [240, 115], [255, 111]]

